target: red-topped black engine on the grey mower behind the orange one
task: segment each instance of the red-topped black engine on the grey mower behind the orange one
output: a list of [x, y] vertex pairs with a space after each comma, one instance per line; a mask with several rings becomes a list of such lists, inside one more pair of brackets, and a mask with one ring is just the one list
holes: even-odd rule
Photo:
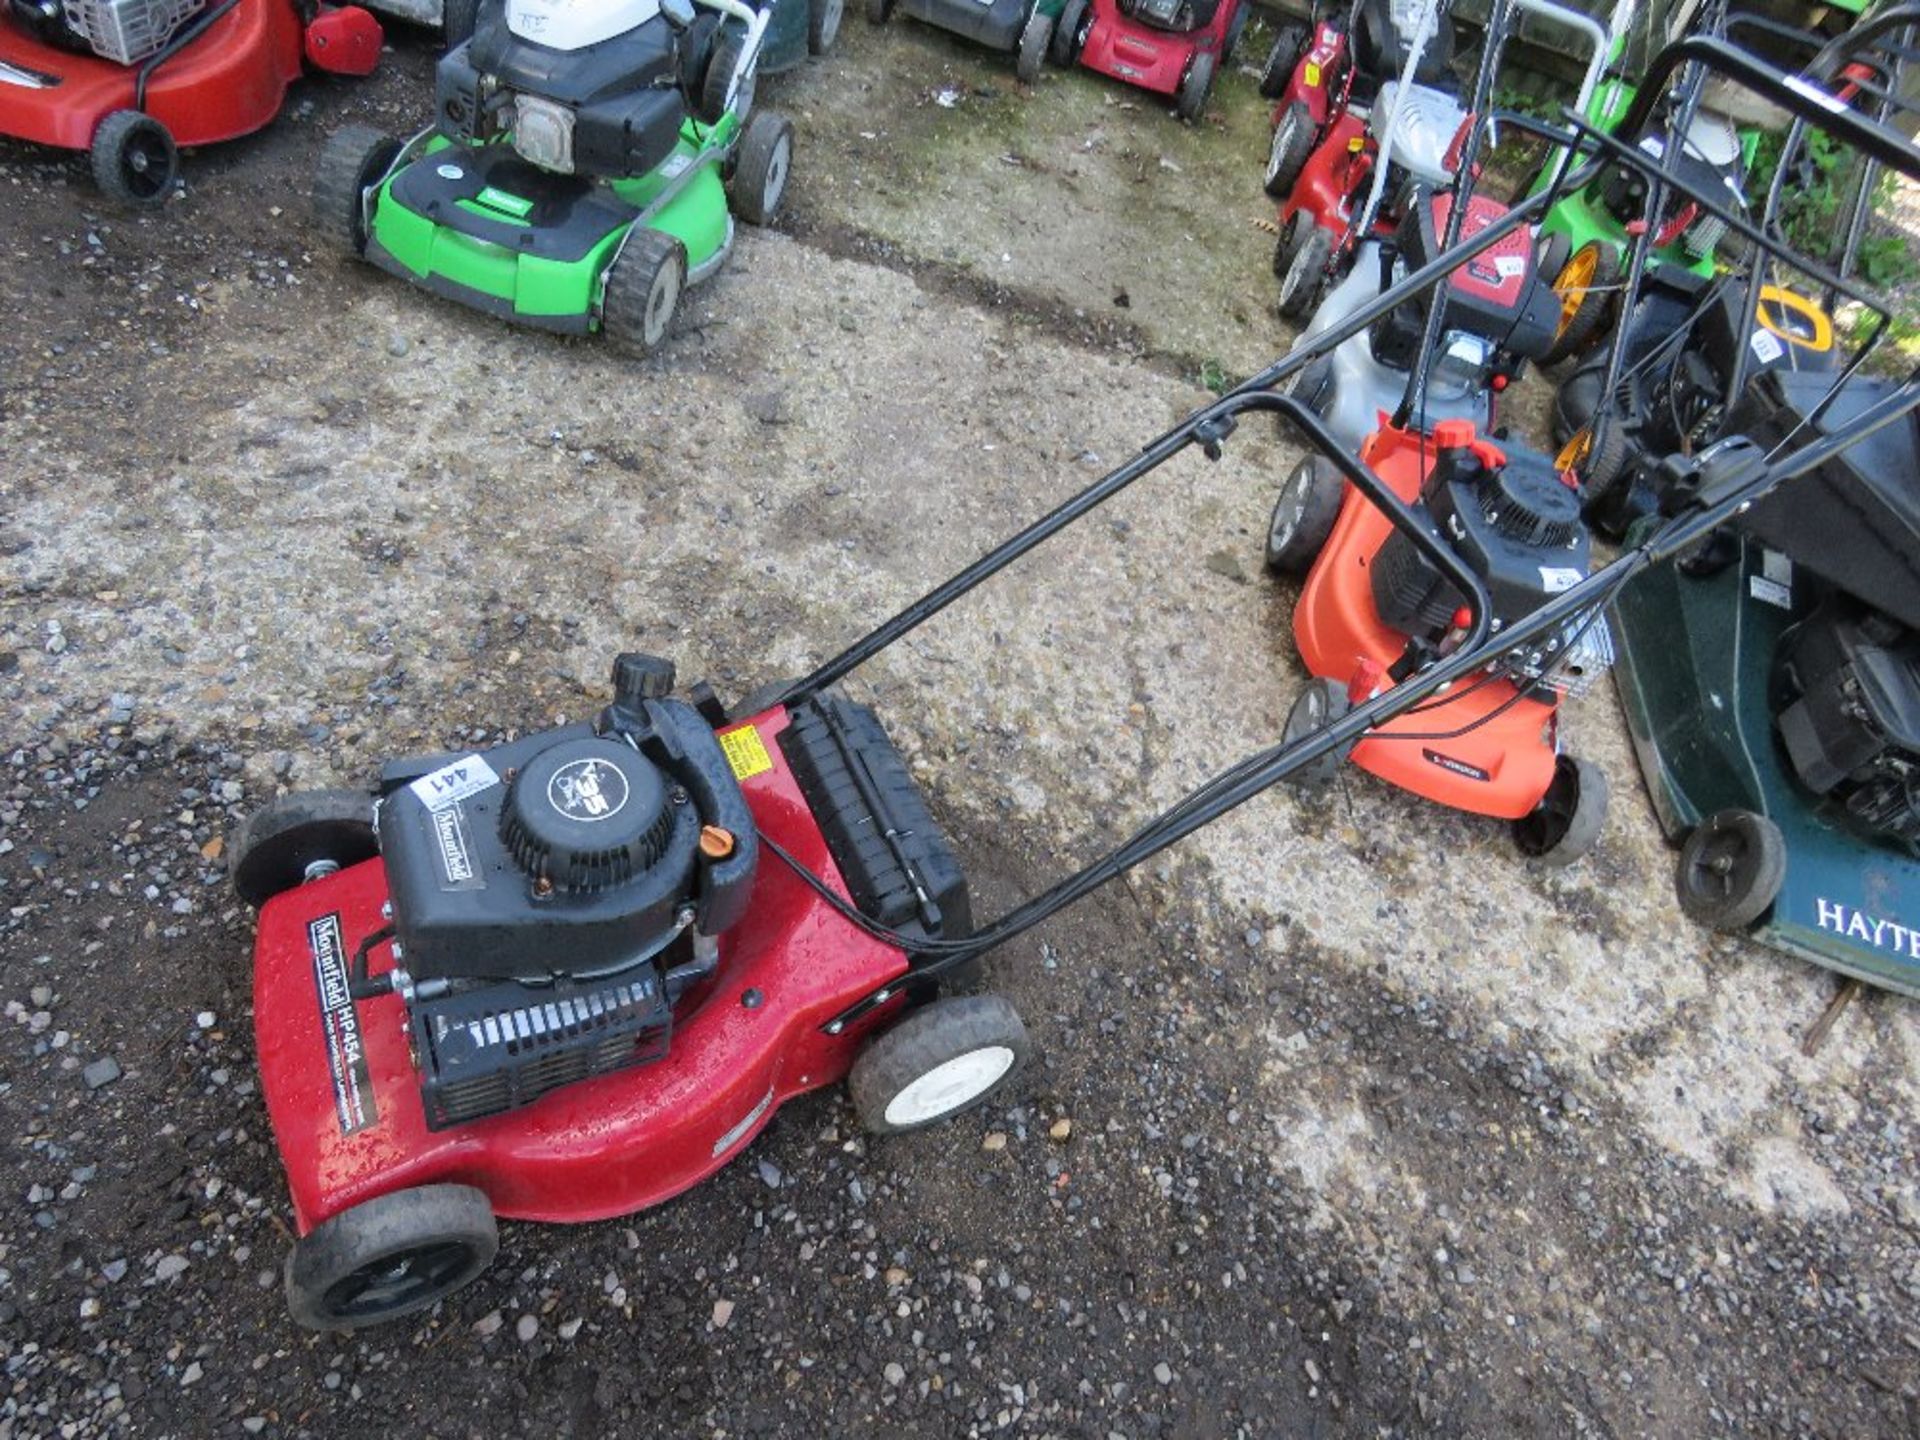
[[[1382, 288], [1440, 255], [1452, 207], [1450, 192], [1415, 186], [1392, 244], [1380, 250]], [[1507, 207], [1498, 200], [1471, 196], [1461, 219], [1461, 240], [1471, 240], [1505, 213]], [[1436, 298], [1446, 305], [1440, 348], [1427, 376], [1427, 386], [1436, 396], [1500, 388], [1517, 374], [1523, 359], [1538, 359], [1553, 344], [1559, 301], [1534, 269], [1532, 242], [1524, 228], [1482, 250], [1453, 271], [1446, 284], [1425, 290], [1377, 319], [1367, 338], [1380, 365], [1413, 369], [1428, 307]]]

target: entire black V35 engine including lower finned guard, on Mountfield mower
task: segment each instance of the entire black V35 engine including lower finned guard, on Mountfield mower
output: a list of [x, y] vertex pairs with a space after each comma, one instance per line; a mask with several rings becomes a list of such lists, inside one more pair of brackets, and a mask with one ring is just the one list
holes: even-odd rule
[[666, 1054], [758, 854], [712, 726], [672, 666], [620, 657], [595, 724], [397, 762], [376, 824], [430, 1129]]

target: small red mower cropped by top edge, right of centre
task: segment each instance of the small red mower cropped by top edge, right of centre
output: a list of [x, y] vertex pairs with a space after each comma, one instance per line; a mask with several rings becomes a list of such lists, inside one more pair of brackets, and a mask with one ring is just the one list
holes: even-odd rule
[[1169, 94], [1198, 121], [1244, 31], [1242, 0], [1068, 0], [1054, 60]]

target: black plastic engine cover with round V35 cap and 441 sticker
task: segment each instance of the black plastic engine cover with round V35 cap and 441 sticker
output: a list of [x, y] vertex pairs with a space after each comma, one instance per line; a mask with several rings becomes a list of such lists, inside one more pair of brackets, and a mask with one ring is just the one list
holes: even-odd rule
[[[753, 814], [682, 701], [392, 764], [380, 795], [394, 931], [417, 983], [620, 970], [670, 941], [687, 906], [718, 935], [753, 885]], [[705, 824], [733, 835], [728, 856], [701, 854]]]

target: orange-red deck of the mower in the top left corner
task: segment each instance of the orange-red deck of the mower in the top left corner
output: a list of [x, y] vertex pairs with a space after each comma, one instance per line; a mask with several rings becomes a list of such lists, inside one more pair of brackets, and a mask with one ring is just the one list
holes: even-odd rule
[[109, 113], [144, 109], [177, 144], [232, 140], [280, 113], [301, 44], [292, 0], [234, 0], [177, 54], [119, 65], [42, 44], [0, 6], [0, 134], [86, 150]]

